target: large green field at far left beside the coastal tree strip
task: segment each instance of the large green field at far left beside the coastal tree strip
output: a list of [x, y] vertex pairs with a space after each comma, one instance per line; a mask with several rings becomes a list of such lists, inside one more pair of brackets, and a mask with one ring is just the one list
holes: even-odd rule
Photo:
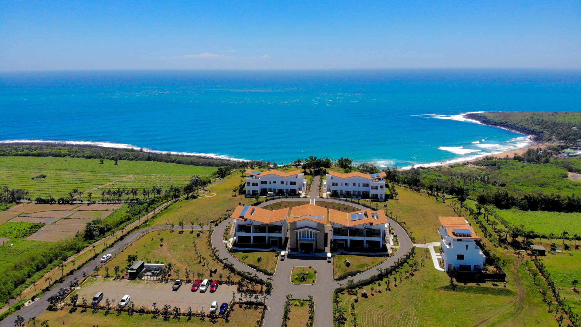
[[[52, 157], [0, 157], [0, 184], [10, 188], [30, 191], [30, 197], [67, 198], [74, 188], [92, 192], [93, 200], [101, 199], [103, 189], [144, 188], [152, 186], [167, 189], [183, 186], [192, 175], [210, 175], [215, 167], [180, 165], [153, 161], [112, 160], [103, 164], [99, 159], [52, 158]], [[40, 175], [44, 178], [33, 179]]]

